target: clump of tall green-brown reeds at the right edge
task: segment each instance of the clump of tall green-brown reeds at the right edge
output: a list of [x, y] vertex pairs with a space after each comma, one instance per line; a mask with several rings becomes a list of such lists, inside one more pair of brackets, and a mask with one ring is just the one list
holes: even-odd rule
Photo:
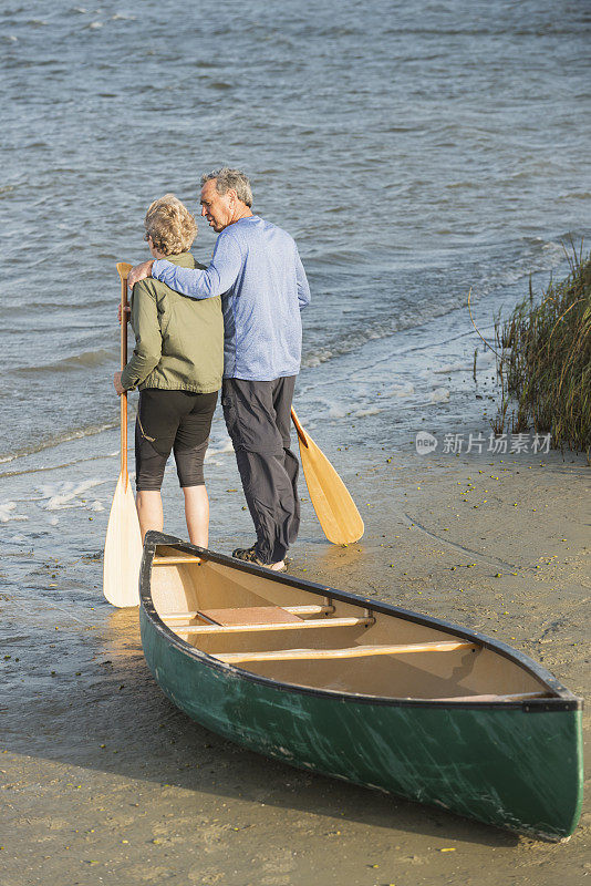
[[[571, 247], [572, 248], [572, 247]], [[502, 400], [497, 433], [533, 429], [552, 446], [591, 454], [591, 255], [572, 248], [569, 276], [495, 323]], [[509, 401], [517, 403], [508, 418]]]

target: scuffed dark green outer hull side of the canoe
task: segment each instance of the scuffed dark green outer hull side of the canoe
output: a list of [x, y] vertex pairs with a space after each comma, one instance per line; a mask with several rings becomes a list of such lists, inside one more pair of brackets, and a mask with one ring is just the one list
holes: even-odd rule
[[563, 839], [577, 825], [577, 705], [396, 703], [286, 686], [185, 648], [144, 606], [139, 622], [164, 693], [250, 750], [537, 837]]

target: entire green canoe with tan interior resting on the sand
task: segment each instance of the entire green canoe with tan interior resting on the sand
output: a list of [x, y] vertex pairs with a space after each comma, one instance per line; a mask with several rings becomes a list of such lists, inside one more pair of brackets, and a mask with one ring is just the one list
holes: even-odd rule
[[546, 839], [582, 802], [582, 700], [502, 642], [146, 536], [139, 622], [166, 696], [291, 765]]

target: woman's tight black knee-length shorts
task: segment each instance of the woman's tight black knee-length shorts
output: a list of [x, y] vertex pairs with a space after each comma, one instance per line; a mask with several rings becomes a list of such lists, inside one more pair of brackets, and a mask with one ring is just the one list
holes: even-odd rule
[[164, 468], [174, 450], [182, 486], [203, 486], [204, 459], [218, 392], [139, 392], [135, 420], [135, 485], [138, 491], [159, 491]]

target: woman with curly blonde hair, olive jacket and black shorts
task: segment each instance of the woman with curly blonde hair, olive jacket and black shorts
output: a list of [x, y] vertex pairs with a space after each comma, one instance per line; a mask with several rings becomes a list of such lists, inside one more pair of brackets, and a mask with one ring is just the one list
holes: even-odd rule
[[[145, 239], [154, 258], [203, 268], [188, 251], [197, 234], [194, 216], [174, 194], [148, 207]], [[142, 538], [164, 525], [160, 487], [170, 451], [185, 494], [189, 538], [207, 547], [209, 502], [204, 459], [221, 387], [224, 321], [220, 297], [185, 298], [158, 280], [133, 288], [132, 359], [114, 377], [115, 390], [139, 390], [135, 423], [136, 506]]]

